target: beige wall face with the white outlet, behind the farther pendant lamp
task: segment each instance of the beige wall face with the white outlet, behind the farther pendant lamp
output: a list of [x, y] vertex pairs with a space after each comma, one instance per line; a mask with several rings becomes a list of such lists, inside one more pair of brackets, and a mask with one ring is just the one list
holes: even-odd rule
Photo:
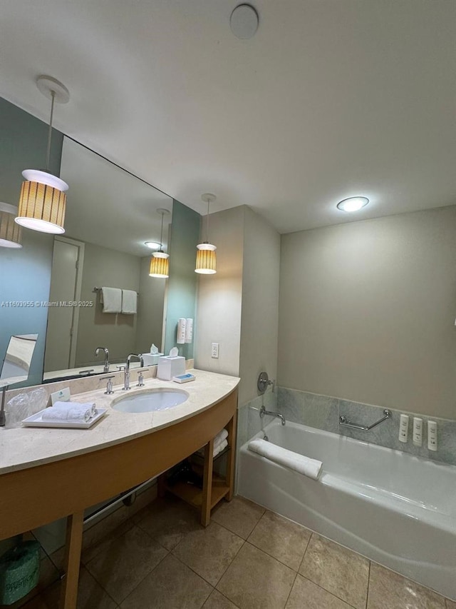
[[[238, 376], [244, 207], [211, 213], [209, 238], [217, 246], [217, 273], [198, 278], [195, 368]], [[219, 343], [218, 359], [211, 358], [211, 343]]]

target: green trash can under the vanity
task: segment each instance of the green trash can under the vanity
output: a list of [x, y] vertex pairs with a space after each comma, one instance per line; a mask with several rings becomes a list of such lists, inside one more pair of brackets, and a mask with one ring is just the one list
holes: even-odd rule
[[0, 558], [0, 605], [12, 605], [38, 584], [40, 544], [23, 541]]

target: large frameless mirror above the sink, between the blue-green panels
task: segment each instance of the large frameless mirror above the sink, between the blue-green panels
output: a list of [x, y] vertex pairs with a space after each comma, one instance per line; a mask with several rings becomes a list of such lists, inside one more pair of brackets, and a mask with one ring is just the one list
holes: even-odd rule
[[[167, 251], [172, 198], [86, 149], [63, 138], [61, 178], [71, 185], [65, 235], [53, 247], [44, 379], [78, 376], [103, 365], [97, 347], [108, 348], [110, 363], [128, 353], [162, 348], [166, 281], [149, 276], [151, 249]], [[138, 294], [137, 313], [105, 313], [102, 287]], [[60, 306], [60, 303], [76, 306]], [[113, 370], [116, 370], [113, 366]], [[101, 371], [101, 369], [100, 369]]]

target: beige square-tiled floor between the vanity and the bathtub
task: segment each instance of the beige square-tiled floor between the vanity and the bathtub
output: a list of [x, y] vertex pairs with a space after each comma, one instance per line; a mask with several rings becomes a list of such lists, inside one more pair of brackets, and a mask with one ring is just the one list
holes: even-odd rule
[[[56, 609], [58, 583], [24, 609]], [[242, 498], [207, 528], [159, 499], [83, 552], [78, 609], [456, 609]]]

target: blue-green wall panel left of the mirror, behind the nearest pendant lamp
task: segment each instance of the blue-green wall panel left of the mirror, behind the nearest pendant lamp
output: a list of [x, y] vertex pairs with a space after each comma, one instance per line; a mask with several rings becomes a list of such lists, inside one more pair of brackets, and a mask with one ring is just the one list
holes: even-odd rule
[[[24, 169], [43, 169], [48, 126], [0, 98], [0, 201], [17, 206]], [[60, 173], [63, 135], [53, 130], [49, 172]], [[21, 249], [0, 248], [0, 365], [11, 334], [38, 333], [30, 376], [41, 383], [48, 312], [46, 307], [13, 307], [10, 301], [48, 301], [53, 235], [23, 228]], [[19, 383], [16, 385], [19, 387]]]

